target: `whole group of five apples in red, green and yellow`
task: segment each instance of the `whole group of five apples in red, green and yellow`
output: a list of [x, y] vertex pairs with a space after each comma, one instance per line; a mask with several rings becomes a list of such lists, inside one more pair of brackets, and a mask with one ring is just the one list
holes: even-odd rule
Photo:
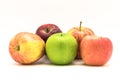
[[88, 27], [71, 28], [63, 33], [55, 24], [43, 24], [36, 33], [20, 32], [9, 43], [13, 60], [20, 64], [33, 64], [44, 55], [52, 64], [66, 65], [83, 60], [86, 65], [102, 66], [112, 56], [112, 41], [97, 36]]

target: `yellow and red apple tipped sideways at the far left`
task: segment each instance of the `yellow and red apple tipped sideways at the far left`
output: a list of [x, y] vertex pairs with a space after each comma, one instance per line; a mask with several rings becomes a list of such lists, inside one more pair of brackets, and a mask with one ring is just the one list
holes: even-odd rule
[[44, 55], [45, 42], [38, 35], [29, 32], [16, 34], [9, 43], [13, 60], [20, 64], [32, 64]]

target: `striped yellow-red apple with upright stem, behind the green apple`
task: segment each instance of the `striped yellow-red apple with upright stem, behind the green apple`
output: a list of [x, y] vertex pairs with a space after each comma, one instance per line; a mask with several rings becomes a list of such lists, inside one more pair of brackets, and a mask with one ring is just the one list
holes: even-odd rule
[[[73, 27], [71, 28], [68, 33], [73, 35], [75, 39], [78, 42], [78, 45], [81, 43], [81, 40], [87, 36], [87, 35], [95, 35], [95, 33], [92, 31], [92, 29], [81, 26], [82, 21], [80, 21], [80, 26], [79, 27]], [[81, 54], [80, 54], [80, 46], [78, 46], [78, 53], [76, 56], [76, 59], [81, 59]]]

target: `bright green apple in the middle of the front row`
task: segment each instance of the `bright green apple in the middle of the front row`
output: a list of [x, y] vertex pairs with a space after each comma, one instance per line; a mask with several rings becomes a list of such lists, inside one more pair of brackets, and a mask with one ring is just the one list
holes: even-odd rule
[[46, 42], [46, 53], [51, 63], [56, 65], [70, 64], [77, 54], [76, 39], [67, 33], [51, 35]]

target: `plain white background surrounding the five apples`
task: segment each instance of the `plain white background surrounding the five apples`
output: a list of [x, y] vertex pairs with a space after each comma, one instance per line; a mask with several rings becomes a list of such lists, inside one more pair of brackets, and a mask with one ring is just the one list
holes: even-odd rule
[[[41, 81], [120, 81], [119, 0], [0, 0], [0, 82]], [[73, 26], [93, 29], [96, 35], [109, 37], [113, 54], [105, 66], [23, 66], [10, 57], [10, 39], [19, 32], [35, 33], [45, 23], [58, 25], [63, 32]]]

